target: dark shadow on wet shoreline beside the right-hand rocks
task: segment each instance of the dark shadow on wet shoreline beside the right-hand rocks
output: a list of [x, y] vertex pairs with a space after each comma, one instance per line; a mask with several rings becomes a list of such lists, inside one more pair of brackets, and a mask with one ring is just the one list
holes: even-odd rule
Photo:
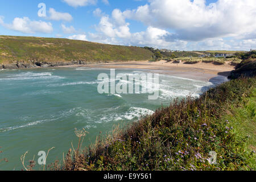
[[210, 88], [213, 88], [215, 86], [218, 86], [226, 81], [229, 81], [230, 79], [228, 78], [228, 76], [230, 75], [230, 72], [220, 72], [218, 73], [218, 76], [210, 78], [209, 82], [212, 83], [211, 86], [203, 86], [203, 88], [201, 88], [201, 92], [207, 92], [207, 90], [209, 90]]

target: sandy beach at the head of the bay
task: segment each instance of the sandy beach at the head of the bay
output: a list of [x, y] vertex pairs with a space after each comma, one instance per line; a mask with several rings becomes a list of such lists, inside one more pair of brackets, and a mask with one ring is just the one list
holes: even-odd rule
[[73, 68], [106, 68], [106, 69], [144, 69], [146, 71], [173, 75], [197, 80], [209, 81], [215, 77], [227, 77], [234, 70], [230, 61], [224, 65], [214, 65], [212, 63], [197, 64], [174, 64], [165, 60], [150, 61], [129, 61], [125, 63], [105, 63], [105, 64], [88, 64], [88, 65], [69, 65], [64, 67]]

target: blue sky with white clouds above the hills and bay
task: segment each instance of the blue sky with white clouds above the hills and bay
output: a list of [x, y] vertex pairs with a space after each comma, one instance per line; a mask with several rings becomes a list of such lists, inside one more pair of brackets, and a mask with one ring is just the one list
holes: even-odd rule
[[255, 0], [0, 0], [0, 35], [171, 50], [256, 49]]

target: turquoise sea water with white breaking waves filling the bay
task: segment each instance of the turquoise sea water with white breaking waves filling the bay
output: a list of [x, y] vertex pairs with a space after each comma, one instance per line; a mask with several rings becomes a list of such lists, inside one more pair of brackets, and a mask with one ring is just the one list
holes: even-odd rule
[[[143, 73], [143, 70], [119, 69], [117, 73]], [[176, 98], [200, 93], [226, 81], [205, 82], [170, 75], [159, 76], [159, 98], [148, 100], [148, 94], [99, 94], [100, 73], [109, 69], [56, 68], [0, 70], [0, 146], [3, 151], [0, 170], [20, 170], [20, 156], [35, 160], [39, 151], [55, 147], [47, 163], [62, 160], [77, 144], [75, 128], [89, 134], [83, 146], [94, 143], [96, 136], [106, 134], [114, 125], [125, 125], [141, 116], [152, 114]], [[118, 80], [115, 80], [118, 82]], [[143, 85], [143, 83], [142, 83]], [[142, 86], [141, 85], [141, 86]], [[39, 167], [39, 166], [36, 166]]]

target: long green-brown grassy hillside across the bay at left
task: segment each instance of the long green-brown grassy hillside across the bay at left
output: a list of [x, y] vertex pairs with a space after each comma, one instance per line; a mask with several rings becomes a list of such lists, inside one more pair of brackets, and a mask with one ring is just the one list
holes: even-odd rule
[[48, 62], [149, 60], [152, 52], [80, 40], [0, 36], [0, 63], [40, 60]]

